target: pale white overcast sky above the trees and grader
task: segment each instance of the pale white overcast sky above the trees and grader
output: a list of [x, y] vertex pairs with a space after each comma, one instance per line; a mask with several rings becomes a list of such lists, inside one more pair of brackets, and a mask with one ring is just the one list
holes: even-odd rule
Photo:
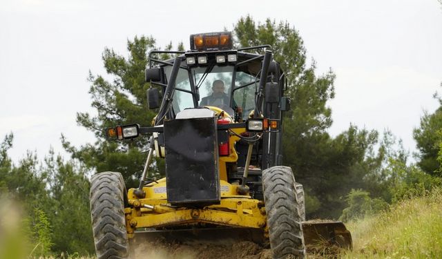
[[332, 69], [332, 136], [350, 124], [389, 129], [416, 151], [413, 128], [442, 82], [442, 4], [405, 1], [68, 1], [0, 0], [0, 139], [14, 133], [9, 155], [39, 158], [94, 142], [77, 126], [90, 107], [88, 73], [106, 75], [104, 48], [127, 56], [126, 43], [151, 35], [158, 46], [189, 35], [231, 30], [246, 15], [287, 21], [304, 40], [318, 75]]

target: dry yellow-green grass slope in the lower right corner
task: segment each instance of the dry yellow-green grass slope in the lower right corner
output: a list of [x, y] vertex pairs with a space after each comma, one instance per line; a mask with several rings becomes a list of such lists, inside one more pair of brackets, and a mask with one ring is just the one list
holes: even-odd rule
[[340, 258], [442, 258], [442, 189], [346, 225], [354, 249]]

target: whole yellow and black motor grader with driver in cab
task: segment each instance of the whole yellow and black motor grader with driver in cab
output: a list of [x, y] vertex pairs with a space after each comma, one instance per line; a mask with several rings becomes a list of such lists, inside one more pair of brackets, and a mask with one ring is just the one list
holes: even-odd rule
[[[305, 222], [302, 185], [282, 166], [290, 99], [271, 46], [233, 49], [230, 32], [190, 41], [189, 51], [149, 54], [148, 106], [159, 108], [152, 125], [106, 129], [109, 140], [150, 138], [138, 188], [126, 191], [120, 173], [93, 175], [97, 258], [128, 258], [135, 237], [145, 235], [224, 234], [269, 244], [273, 258], [305, 258], [305, 244], [324, 240], [351, 247], [342, 222]], [[155, 58], [162, 53], [176, 57]], [[166, 178], [146, 178], [154, 155], [164, 158]]]

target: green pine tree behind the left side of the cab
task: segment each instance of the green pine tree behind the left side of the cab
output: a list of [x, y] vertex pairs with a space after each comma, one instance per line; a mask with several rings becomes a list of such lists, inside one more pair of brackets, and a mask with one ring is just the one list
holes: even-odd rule
[[[152, 37], [128, 40], [128, 57], [106, 48], [102, 59], [108, 75], [89, 73], [89, 93], [97, 115], [77, 113], [77, 123], [95, 133], [94, 144], [75, 148], [62, 137], [64, 147], [73, 158], [95, 172], [118, 171], [128, 187], [136, 186], [146, 160], [147, 139], [140, 137], [130, 142], [109, 142], [105, 129], [117, 125], [141, 124], [150, 126], [155, 113], [148, 110], [144, 69], [148, 52], [155, 49]], [[172, 46], [168, 46], [172, 48]], [[106, 78], [106, 79], [105, 79]]]

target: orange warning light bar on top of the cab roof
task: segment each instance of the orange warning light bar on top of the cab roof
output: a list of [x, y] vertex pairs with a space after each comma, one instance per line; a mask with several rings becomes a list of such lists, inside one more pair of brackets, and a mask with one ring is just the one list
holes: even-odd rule
[[233, 48], [231, 32], [209, 32], [191, 35], [191, 50], [230, 50]]

